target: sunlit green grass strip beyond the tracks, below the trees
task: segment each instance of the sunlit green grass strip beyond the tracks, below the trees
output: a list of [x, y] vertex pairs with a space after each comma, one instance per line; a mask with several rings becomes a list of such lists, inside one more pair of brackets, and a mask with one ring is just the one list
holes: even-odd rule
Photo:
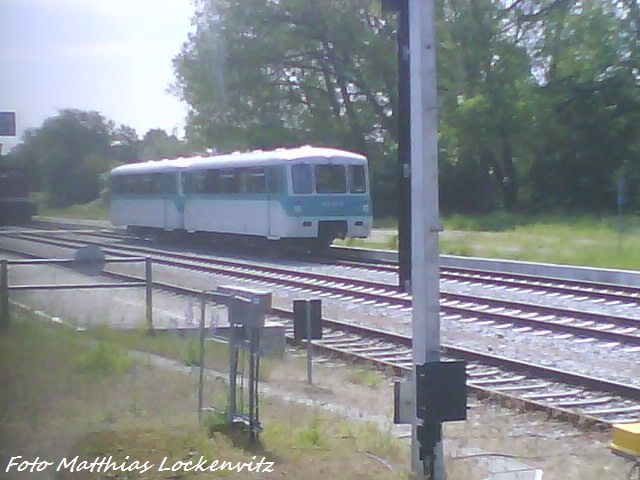
[[[42, 215], [106, 219], [101, 200]], [[440, 252], [450, 255], [503, 258], [604, 268], [640, 270], [640, 217], [588, 215], [451, 215], [442, 218]], [[376, 229], [389, 230], [372, 239], [336, 240], [336, 245], [396, 250], [397, 221], [376, 219]]]

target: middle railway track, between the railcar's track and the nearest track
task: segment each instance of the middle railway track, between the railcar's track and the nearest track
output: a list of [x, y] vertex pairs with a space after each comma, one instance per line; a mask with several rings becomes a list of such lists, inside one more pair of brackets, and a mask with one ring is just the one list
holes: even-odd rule
[[[398, 292], [394, 285], [354, 278], [336, 278], [314, 272], [247, 264], [242, 260], [208, 261], [191, 253], [170, 252], [150, 247], [105, 245], [87, 240], [55, 240], [40, 234], [9, 234], [13, 238], [38, 241], [52, 246], [78, 248], [94, 244], [114, 256], [141, 256], [169, 267], [187, 268], [215, 275], [269, 283], [273, 286], [306, 291], [309, 295], [334, 295], [344, 300], [369, 302], [387, 308], [411, 309], [411, 296]], [[575, 338], [590, 338], [640, 351], [640, 319], [570, 310], [532, 303], [497, 300], [471, 295], [442, 293], [443, 321], [481, 323], [485, 326], [513, 326], [537, 332], [562, 333]]]

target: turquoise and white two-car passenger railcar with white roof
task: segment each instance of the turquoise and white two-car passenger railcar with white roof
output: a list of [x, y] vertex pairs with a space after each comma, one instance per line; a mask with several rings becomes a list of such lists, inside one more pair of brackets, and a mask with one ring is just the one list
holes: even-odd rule
[[367, 159], [299, 147], [124, 165], [111, 173], [111, 218], [137, 233], [212, 232], [324, 247], [364, 238]]

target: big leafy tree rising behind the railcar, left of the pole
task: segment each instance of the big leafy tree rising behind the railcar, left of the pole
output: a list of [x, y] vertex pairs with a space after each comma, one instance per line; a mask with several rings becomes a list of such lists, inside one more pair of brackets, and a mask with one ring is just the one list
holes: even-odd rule
[[196, 32], [174, 60], [189, 140], [217, 151], [355, 150], [385, 175], [374, 179], [376, 203], [391, 204], [394, 170], [383, 164], [395, 152], [395, 47], [392, 22], [371, 13], [379, 0], [196, 5]]

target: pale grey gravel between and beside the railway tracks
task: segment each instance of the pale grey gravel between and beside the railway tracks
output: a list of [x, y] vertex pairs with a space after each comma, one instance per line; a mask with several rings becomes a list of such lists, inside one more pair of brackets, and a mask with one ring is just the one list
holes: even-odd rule
[[[0, 246], [11, 247], [17, 242], [0, 237]], [[68, 258], [69, 251], [32, 243], [29, 251], [48, 257]], [[5, 258], [9, 258], [6, 257]], [[142, 272], [141, 267], [124, 267], [126, 270]], [[316, 269], [317, 266], [305, 268]], [[324, 267], [321, 267], [324, 268]], [[343, 271], [342, 274], [345, 272]], [[380, 280], [378, 274], [372, 280]], [[154, 267], [154, 278], [162, 281], [184, 283], [184, 272], [169, 267]], [[57, 267], [16, 267], [10, 269], [10, 284], [22, 283], [86, 283], [91, 282], [83, 275]], [[213, 289], [218, 285], [253, 285], [249, 282], [231, 281], [221, 276], [190, 272], [189, 286], [193, 288]], [[258, 285], [259, 287], [260, 285]], [[443, 285], [447, 289], [459, 288], [460, 293], [473, 293], [473, 286]], [[266, 288], [263, 286], [263, 288]], [[489, 294], [483, 289], [483, 295]], [[493, 293], [499, 298], [513, 298], [527, 301], [523, 292], [498, 291]], [[513, 296], [512, 296], [513, 295]], [[274, 292], [274, 305], [289, 307], [297, 298], [313, 295], [305, 292]], [[529, 295], [529, 300], [532, 295]], [[541, 303], [548, 304], [547, 296], [535, 295]], [[544, 297], [544, 298], [543, 298]], [[33, 308], [58, 316], [65, 321], [88, 326], [105, 324], [116, 328], [130, 328], [144, 324], [144, 290], [117, 289], [97, 291], [49, 291], [20, 292], [12, 294], [12, 299]], [[577, 302], [581, 304], [581, 302]], [[584, 305], [584, 304], [582, 304]], [[578, 308], [577, 305], [569, 308]], [[600, 305], [602, 308], [607, 308]], [[627, 307], [620, 307], [627, 308]], [[160, 326], [184, 326], [197, 318], [194, 301], [184, 297], [154, 292], [154, 324]], [[323, 311], [327, 317], [353, 320], [359, 323], [375, 324], [408, 333], [411, 314], [408, 309], [388, 309], [378, 305], [351, 304], [339, 298], [323, 297]], [[615, 314], [621, 314], [616, 312]], [[634, 312], [637, 316], [637, 311]], [[550, 335], [522, 335], [500, 332], [503, 338], [496, 338], [496, 330], [477, 324], [448, 321], [443, 319], [443, 341], [460, 342], [465, 346], [478, 349], [495, 348], [504, 355], [527, 358], [540, 363], [549, 362], [560, 368], [572, 368], [593, 373], [619, 381], [637, 382], [637, 353], [622, 348], [605, 347], [601, 342], [591, 344], [553, 339]], [[543, 343], [544, 342], [544, 343]], [[538, 352], [544, 348], [545, 358], [540, 359]], [[588, 363], [587, 363], [588, 362]], [[606, 366], [606, 368], [605, 368]], [[289, 365], [290, 367], [290, 365]], [[351, 418], [363, 418], [377, 421], [391, 429], [392, 389], [390, 381], [385, 380], [375, 389], [350, 385], [337, 371], [344, 370], [341, 364], [319, 365], [314, 369], [314, 379], [322, 388], [309, 393], [303, 386], [298, 370], [283, 369], [274, 373], [274, 382], [279, 389], [292, 392], [292, 396], [313, 397], [316, 405], [326, 408], [342, 408]], [[600, 372], [598, 369], [602, 369]], [[302, 369], [302, 371], [304, 371]], [[282, 391], [278, 390], [281, 395]], [[544, 470], [545, 480], [549, 478], [582, 480], [603, 478], [626, 478], [629, 462], [611, 455], [607, 448], [608, 436], [602, 432], [584, 432], [570, 425], [558, 423], [543, 414], [516, 412], [500, 406], [478, 403], [471, 400], [469, 419], [466, 422], [448, 424], [445, 429], [445, 449], [452, 458], [449, 460], [454, 472], [467, 472], [468, 469], [481, 471], [489, 468], [490, 459], [509, 459], [517, 457], [528, 465]], [[406, 428], [395, 428], [398, 435], [406, 434]], [[494, 462], [495, 463], [495, 462]], [[471, 466], [470, 466], [471, 465]], [[495, 465], [494, 465], [495, 466]], [[473, 467], [473, 468], [472, 468]], [[470, 473], [460, 473], [458, 478], [473, 478]], [[455, 477], [454, 477], [455, 478]], [[482, 475], [477, 478], [484, 478]], [[497, 477], [496, 477], [497, 478]]]

